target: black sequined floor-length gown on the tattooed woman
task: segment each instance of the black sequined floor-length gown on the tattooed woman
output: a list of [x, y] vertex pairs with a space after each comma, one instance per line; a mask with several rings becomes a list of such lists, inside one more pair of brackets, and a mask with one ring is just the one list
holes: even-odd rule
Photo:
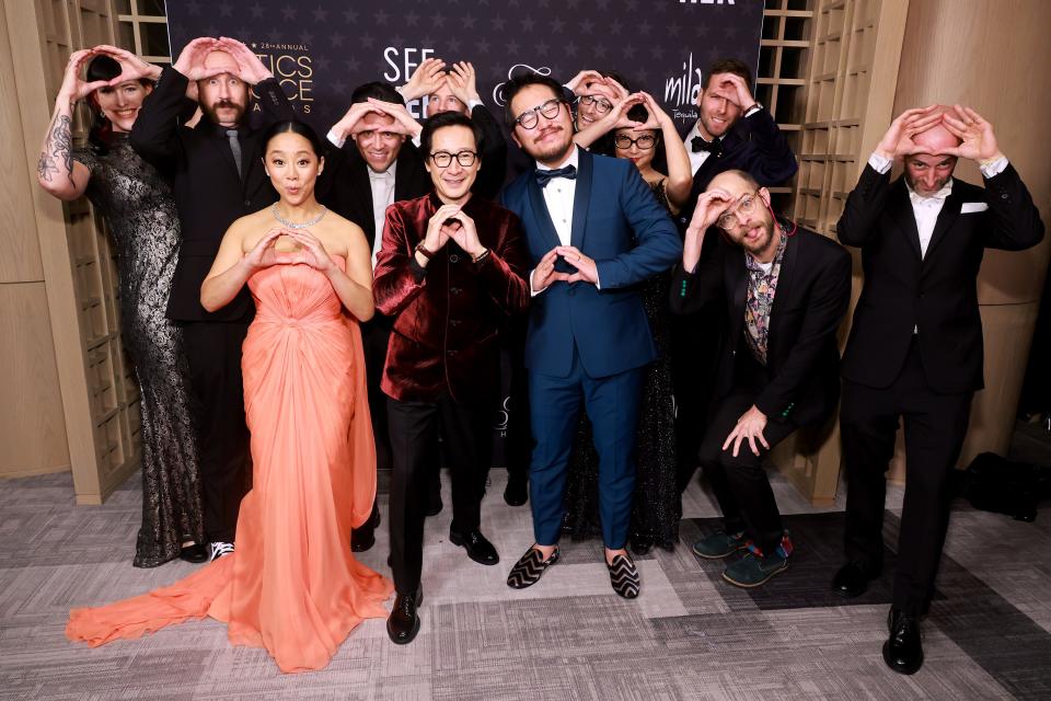
[[178, 216], [168, 184], [113, 135], [100, 154], [78, 149], [91, 170], [85, 195], [116, 243], [120, 331], [135, 363], [141, 401], [142, 526], [134, 564], [155, 567], [186, 540], [204, 542], [197, 434], [182, 331], [165, 317], [178, 254]]

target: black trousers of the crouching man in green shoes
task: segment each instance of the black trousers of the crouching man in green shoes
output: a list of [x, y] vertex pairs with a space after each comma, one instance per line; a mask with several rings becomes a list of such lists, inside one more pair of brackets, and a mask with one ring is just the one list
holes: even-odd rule
[[[736, 458], [732, 445], [723, 450], [726, 437], [734, 430], [741, 414], [755, 402], [760, 389], [748, 383], [738, 384], [719, 402], [701, 441], [700, 456], [701, 468], [723, 510], [726, 532], [744, 531], [764, 553], [771, 553], [781, 543], [784, 527], [774, 492], [770, 489], [770, 479], [763, 469], [763, 459], [769, 450], [757, 443], [757, 456], [747, 439], [741, 441]], [[767, 417], [763, 437], [773, 449], [795, 429], [792, 422]]]

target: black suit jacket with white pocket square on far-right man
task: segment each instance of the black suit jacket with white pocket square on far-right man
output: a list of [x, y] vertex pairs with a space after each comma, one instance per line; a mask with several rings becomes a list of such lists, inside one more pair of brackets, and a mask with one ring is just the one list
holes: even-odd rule
[[[965, 204], [972, 210], [963, 212]], [[973, 211], [988, 206], [983, 211]], [[936, 392], [972, 392], [982, 381], [978, 273], [985, 249], [1020, 251], [1043, 239], [1043, 222], [1014, 166], [985, 181], [960, 180], [938, 215], [927, 253], [903, 177], [890, 182], [866, 165], [836, 226], [840, 241], [862, 249], [865, 286], [843, 354], [843, 377], [889, 387], [913, 329], [924, 372]]]

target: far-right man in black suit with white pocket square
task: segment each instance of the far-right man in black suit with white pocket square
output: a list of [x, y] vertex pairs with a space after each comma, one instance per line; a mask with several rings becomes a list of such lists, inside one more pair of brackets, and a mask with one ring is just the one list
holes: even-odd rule
[[[897, 158], [904, 174], [891, 182]], [[984, 189], [952, 179], [958, 158], [979, 163]], [[982, 255], [1036, 245], [1043, 223], [992, 126], [973, 110], [932, 105], [890, 125], [838, 227], [840, 241], [862, 249], [865, 286], [843, 355], [847, 564], [832, 587], [857, 596], [880, 573], [885, 472], [903, 417], [906, 485], [883, 660], [912, 674], [923, 664], [919, 621], [948, 527], [948, 478], [982, 388]]]

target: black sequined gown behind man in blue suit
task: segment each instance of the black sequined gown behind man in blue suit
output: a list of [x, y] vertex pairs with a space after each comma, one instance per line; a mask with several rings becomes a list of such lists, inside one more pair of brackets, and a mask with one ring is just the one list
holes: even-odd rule
[[[650, 185], [666, 208], [665, 181]], [[657, 346], [657, 359], [645, 368], [638, 413], [635, 497], [630, 542], [636, 552], [651, 545], [667, 550], [679, 540], [682, 498], [675, 483], [675, 409], [671, 387], [668, 288], [671, 273], [650, 278], [643, 287], [643, 304]], [[601, 537], [599, 524], [599, 456], [591, 439], [591, 423], [580, 407], [577, 437], [569, 458], [566, 515], [563, 531], [574, 540]]]

